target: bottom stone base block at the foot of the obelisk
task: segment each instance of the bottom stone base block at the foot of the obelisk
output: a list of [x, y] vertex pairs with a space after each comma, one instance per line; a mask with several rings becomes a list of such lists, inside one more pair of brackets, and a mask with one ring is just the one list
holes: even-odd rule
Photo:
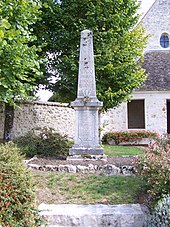
[[72, 147], [69, 150], [69, 155], [103, 155], [104, 150], [101, 147], [97, 148], [85, 148], [85, 147]]

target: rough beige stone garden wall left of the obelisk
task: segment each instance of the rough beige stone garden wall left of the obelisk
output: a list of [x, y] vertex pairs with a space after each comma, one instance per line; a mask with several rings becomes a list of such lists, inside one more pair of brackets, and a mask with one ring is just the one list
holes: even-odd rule
[[[13, 135], [18, 137], [36, 127], [48, 126], [73, 138], [74, 110], [68, 104], [52, 102], [29, 102], [15, 109]], [[0, 111], [0, 136], [3, 137], [4, 108]]]

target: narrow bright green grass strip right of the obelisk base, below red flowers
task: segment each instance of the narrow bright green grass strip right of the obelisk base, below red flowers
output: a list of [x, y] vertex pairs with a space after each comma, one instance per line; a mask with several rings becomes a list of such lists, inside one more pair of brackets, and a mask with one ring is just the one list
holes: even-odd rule
[[103, 149], [108, 156], [122, 156], [122, 155], [142, 155], [144, 149], [135, 146], [114, 146], [114, 145], [103, 145]]

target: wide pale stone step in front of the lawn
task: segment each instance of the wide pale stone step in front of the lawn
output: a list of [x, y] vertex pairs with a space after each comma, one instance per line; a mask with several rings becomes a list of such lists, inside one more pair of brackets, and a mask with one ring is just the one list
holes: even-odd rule
[[41, 204], [38, 209], [49, 227], [144, 227], [149, 214], [140, 204]]

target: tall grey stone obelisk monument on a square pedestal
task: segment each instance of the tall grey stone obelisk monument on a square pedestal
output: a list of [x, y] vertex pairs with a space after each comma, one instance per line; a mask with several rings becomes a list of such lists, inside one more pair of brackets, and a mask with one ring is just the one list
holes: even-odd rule
[[69, 155], [102, 155], [98, 116], [103, 103], [96, 97], [93, 33], [89, 30], [81, 32], [77, 98], [71, 106], [76, 111], [76, 129]]

